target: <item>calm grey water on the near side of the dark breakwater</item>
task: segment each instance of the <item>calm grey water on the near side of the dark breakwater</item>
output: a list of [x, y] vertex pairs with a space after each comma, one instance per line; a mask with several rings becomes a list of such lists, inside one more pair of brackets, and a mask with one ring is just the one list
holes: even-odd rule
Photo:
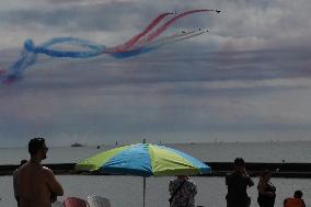
[[[65, 196], [87, 198], [88, 195], [107, 197], [112, 207], [141, 207], [142, 179], [137, 176], [88, 176], [88, 175], [57, 175], [65, 188]], [[148, 177], [146, 187], [146, 207], [168, 207], [168, 183], [173, 177]], [[191, 177], [198, 186], [196, 204], [205, 207], [226, 207], [227, 188], [223, 177]], [[254, 182], [257, 183], [257, 177]], [[276, 207], [283, 206], [283, 200], [292, 195], [296, 189], [302, 189], [307, 206], [311, 204], [311, 180], [304, 179], [272, 179], [277, 187]], [[15, 207], [12, 193], [12, 177], [0, 176], [0, 206]], [[256, 204], [256, 187], [249, 189], [252, 207]], [[58, 200], [62, 200], [59, 197]]]

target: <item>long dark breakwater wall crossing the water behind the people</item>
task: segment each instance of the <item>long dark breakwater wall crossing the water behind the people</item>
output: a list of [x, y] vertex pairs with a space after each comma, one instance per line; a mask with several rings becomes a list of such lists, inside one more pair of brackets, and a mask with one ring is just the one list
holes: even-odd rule
[[[211, 168], [210, 174], [201, 174], [199, 176], [224, 176], [233, 169], [232, 162], [206, 162]], [[81, 172], [76, 171], [76, 163], [54, 163], [44, 164], [51, 169], [55, 174], [88, 174], [88, 175], [102, 175], [100, 172]], [[18, 168], [14, 164], [0, 165], [0, 175], [12, 175], [13, 171]], [[251, 176], [258, 176], [265, 169], [275, 171], [274, 177], [298, 177], [311, 179], [311, 163], [246, 163], [246, 171]], [[105, 174], [107, 175], [107, 174]]]

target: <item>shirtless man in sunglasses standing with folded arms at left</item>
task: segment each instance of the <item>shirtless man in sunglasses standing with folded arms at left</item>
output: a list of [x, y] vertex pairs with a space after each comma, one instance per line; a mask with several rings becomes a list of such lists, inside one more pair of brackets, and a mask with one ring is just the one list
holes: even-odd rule
[[64, 194], [51, 170], [41, 164], [46, 159], [47, 150], [44, 138], [30, 140], [31, 159], [18, 173], [20, 207], [50, 207], [51, 199]]

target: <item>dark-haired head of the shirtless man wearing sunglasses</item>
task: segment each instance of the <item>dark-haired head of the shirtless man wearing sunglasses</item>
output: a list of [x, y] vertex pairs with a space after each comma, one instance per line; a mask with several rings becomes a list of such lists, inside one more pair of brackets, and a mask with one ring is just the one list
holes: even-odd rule
[[32, 158], [36, 157], [39, 158], [41, 160], [46, 159], [46, 152], [48, 148], [45, 145], [45, 139], [37, 137], [33, 138], [28, 142], [28, 152]]

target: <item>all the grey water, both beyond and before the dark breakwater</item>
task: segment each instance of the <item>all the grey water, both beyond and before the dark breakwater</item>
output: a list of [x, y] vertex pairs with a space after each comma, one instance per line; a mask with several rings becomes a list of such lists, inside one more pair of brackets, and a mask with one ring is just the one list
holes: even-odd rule
[[[243, 157], [246, 162], [311, 162], [311, 141], [298, 142], [234, 142], [234, 143], [193, 143], [166, 145], [185, 151], [204, 161], [232, 161]], [[91, 154], [111, 149], [115, 146], [95, 147], [55, 147], [48, 151], [44, 163], [78, 162]], [[1, 164], [18, 164], [21, 159], [28, 158], [25, 148], [0, 149]], [[112, 207], [141, 207], [142, 177], [137, 176], [89, 176], [57, 175], [65, 188], [65, 196], [87, 198], [88, 195], [107, 197]], [[169, 206], [168, 183], [173, 177], [148, 177], [146, 188], [146, 207]], [[196, 204], [206, 207], [226, 207], [227, 187], [224, 177], [192, 177], [198, 186]], [[258, 179], [254, 177], [257, 183]], [[311, 180], [309, 179], [272, 179], [277, 187], [276, 207], [283, 206], [283, 200], [291, 196], [296, 189], [304, 193], [307, 206], [311, 204]], [[249, 189], [252, 207], [256, 204], [256, 187]], [[16, 206], [13, 198], [12, 176], [0, 176], [0, 207]], [[59, 197], [59, 200], [62, 200]]]

